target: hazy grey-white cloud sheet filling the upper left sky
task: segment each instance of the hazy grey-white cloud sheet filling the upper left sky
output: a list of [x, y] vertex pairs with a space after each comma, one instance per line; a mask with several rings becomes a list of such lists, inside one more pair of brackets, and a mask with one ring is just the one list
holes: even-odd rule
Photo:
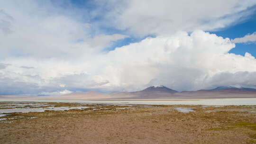
[[[49, 2], [39, 5], [34, 0], [22, 4], [13, 0], [1, 1], [0, 5], [5, 5], [4, 9], [0, 9], [0, 57], [90, 57], [111, 46], [114, 41], [128, 37], [99, 32], [93, 36], [92, 28], [83, 22], [84, 19], [77, 18], [75, 10], [65, 15], [67, 9], [55, 8]], [[8, 25], [1, 25], [1, 21], [8, 22]]]

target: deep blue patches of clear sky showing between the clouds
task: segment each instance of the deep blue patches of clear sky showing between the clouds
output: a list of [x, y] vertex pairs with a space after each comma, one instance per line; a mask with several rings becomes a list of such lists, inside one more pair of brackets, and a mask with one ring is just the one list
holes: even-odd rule
[[[95, 5], [95, 3], [92, 0], [71, 0], [71, 2], [74, 7], [76, 7], [77, 9], [81, 9], [84, 13], [90, 13], [94, 9], [97, 9], [97, 5]], [[252, 7], [250, 9], [255, 9], [255, 7]], [[85, 17], [85, 19], [87, 20], [87, 17]], [[101, 16], [90, 19], [91, 22], [95, 22], [95, 21], [97, 22], [100, 20], [101, 20]], [[101, 26], [101, 31], [105, 34], [115, 34], [115, 33], [126, 34], [126, 31], [119, 30], [114, 27], [108, 27], [108, 26], [104, 27], [104, 25]], [[214, 30], [209, 32], [225, 38], [228, 37], [230, 39], [234, 39], [237, 37], [243, 37], [247, 34], [252, 34], [255, 31], [256, 31], [256, 11], [254, 11], [254, 13], [252, 13], [248, 18], [246, 18], [241, 22], [230, 25], [229, 27], [220, 28], [219, 30]], [[128, 38], [116, 41], [113, 45], [111, 45], [110, 47], [107, 47], [106, 50], [114, 50], [116, 47], [121, 47], [124, 45], [128, 45], [130, 43], [139, 42], [148, 36], [154, 37], [154, 35], [147, 35], [140, 38], [130, 36]], [[236, 44], [236, 47], [229, 51], [229, 53], [240, 54], [240, 55], [244, 55], [246, 52], [252, 54], [253, 56], [256, 56], [256, 43]]]

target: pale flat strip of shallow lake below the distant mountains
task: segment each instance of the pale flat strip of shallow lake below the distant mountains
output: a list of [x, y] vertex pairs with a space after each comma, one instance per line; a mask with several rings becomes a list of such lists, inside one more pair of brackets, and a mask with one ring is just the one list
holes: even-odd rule
[[225, 106], [225, 105], [256, 105], [256, 98], [244, 99], [134, 99], [134, 100], [118, 100], [118, 99], [101, 99], [101, 100], [64, 100], [64, 99], [0, 99], [4, 101], [23, 101], [23, 102], [72, 102], [87, 104], [141, 104], [141, 105], [209, 105], [209, 106]]

